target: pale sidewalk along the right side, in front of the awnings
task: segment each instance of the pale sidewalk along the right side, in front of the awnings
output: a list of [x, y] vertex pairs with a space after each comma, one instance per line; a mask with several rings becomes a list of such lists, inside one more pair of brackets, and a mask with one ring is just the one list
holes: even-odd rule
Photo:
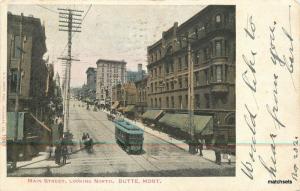
[[[107, 111], [103, 111], [105, 113], [109, 113]], [[125, 118], [125, 117], [124, 117]], [[135, 124], [136, 126], [140, 127], [141, 129], [143, 129], [145, 132], [153, 135], [153, 136], [156, 136], [172, 145], [175, 145], [176, 147], [186, 151], [186, 152], [189, 152], [189, 146], [187, 143], [185, 143], [184, 141], [182, 140], [177, 140], [177, 139], [174, 139], [173, 137], [170, 137], [168, 134], [166, 133], [163, 133], [163, 132], [160, 132], [160, 131], [157, 131], [157, 130], [154, 130], [154, 129], [151, 129], [150, 127], [144, 125], [143, 123], [141, 122], [138, 122], [138, 121], [133, 121], [131, 119], [128, 119], [128, 118], [125, 118], [127, 121], [129, 121], [130, 123], [132, 124]], [[209, 160], [209, 161], [212, 161], [212, 162], [215, 162], [216, 161], [216, 158], [215, 158], [215, 152], [213, 150], [206, 150], [204, 149], [202, 151], [203, 153], [203, 158], [206, 159], [206, 160]], [[232, 163], [235, 163], [236, 161], [236, 157], [235, 156], [231, 156], [231, 162]], [[226, 157], [225, 154], [222, 154], [221, 156], [221, 162], [222, 163], [228, 163], [228, 159]]]

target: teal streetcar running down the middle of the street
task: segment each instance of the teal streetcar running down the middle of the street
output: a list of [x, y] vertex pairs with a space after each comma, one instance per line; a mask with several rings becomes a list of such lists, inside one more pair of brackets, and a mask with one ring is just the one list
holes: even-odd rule
[[129, 154], [141, 153], [143, 151], [144, 131], [124, 119], [117, 119], [114, 122], [116, 142]]

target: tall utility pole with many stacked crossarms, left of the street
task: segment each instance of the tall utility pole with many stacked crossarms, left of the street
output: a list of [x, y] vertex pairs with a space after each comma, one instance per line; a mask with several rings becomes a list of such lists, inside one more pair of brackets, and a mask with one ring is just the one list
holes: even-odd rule
[[64, 131], [69, 127], [69, 105], [70, 105], [70, 80], [71, 80], [71, 63], [72, 61], [79, 61], [72, 58], [72, 33], [81, 32], [82, 19], [80, 18], [83, 11], [74, 9], [61, 9], [59, 12], [59, 31], [68, 32], [68, 55], [58, 59], [66, 61], [65, 72], [65, 89], [64, 89]]

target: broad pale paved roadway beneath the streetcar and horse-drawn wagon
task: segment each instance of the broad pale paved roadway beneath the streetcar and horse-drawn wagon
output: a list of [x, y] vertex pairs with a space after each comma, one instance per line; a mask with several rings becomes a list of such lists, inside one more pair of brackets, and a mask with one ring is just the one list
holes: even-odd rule
[[[79, 106], [81, 105], [81, 106]], [[228, 176], [234, 168], [216, 165], [198, 155], [169, 144], [151, 135], [144, 134], [144, 152], [140, 155], [127, 154], [115, 143], [114, 124], [107, 120], [102, 111], [87, 110], [82, 103], [70, 103], [69, 130], [73, 140], [79, 142], [83, 132], [89, 133], [96, 145], [94, 152], [75, 152], [68, 164], [51, 169], [55, 176]]]

